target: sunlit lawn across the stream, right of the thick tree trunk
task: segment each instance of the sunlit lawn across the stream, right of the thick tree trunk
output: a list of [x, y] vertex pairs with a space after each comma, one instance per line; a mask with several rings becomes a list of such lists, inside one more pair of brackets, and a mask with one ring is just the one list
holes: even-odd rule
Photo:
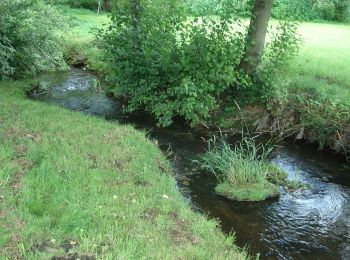
[[292, 87], [350, 101], [350, 25], [303, 23], [304, 44], [291, 68]]

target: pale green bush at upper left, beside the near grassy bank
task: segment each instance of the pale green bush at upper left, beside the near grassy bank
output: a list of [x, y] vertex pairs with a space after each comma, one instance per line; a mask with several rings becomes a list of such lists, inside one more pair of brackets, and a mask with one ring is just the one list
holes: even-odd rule
[[57, 30], [58, 11], [41, 1], [0, 2], [0, 78], [34, 74], [65, 65]]

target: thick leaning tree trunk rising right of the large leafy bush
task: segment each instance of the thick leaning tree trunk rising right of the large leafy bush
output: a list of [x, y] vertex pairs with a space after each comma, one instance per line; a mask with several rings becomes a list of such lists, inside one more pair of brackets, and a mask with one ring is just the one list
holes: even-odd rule
[[272, 5], [273, 0], [255, 0], [254, 3], [245, 51], [240, 64], [243, 71], [249, 75], [254, 74], [261, 60]]

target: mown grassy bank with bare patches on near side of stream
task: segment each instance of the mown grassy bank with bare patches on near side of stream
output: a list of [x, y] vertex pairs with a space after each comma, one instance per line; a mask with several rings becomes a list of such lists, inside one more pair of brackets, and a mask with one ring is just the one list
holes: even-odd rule
[[0, 258], [245, 259], [130, 126], [0, 82]]

